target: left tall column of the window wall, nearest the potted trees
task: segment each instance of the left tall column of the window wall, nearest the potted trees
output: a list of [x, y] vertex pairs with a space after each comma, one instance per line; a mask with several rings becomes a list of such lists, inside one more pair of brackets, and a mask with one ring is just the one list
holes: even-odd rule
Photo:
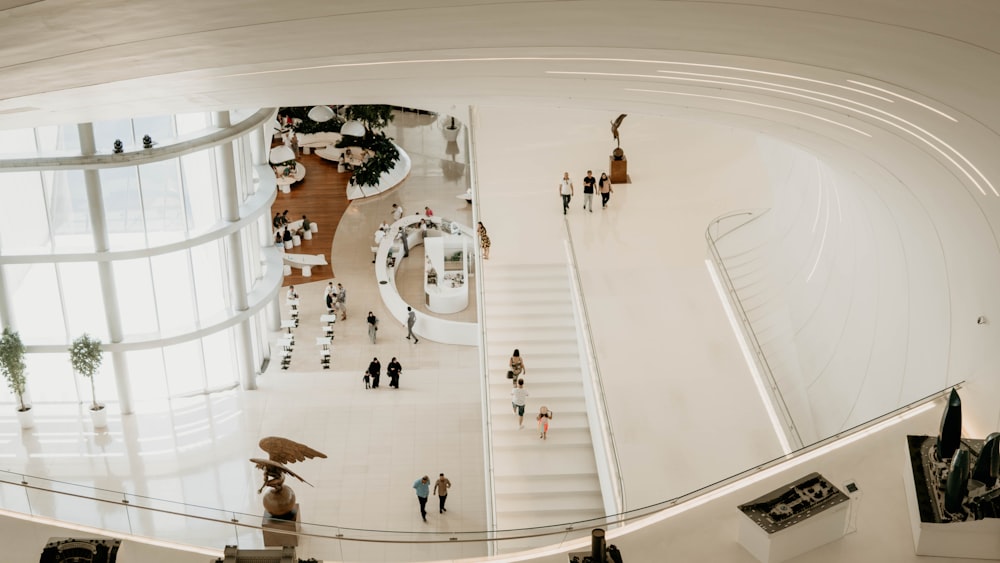
[[[90, 123], [77, 125], [80, 136], [80, 152], [84, 155], [97, 154], [94, 142], [94, 127]], [[87, 186], [87, 208], [90, 211], [90, 227], [93, 232], [94, 250], [110, 250], [108, 225], [104, 217], [104, 198], [101, 196], [101, 176], [97, 170], [83, 171]], [[108, 334], [112, 343], [121, 342], [125, 335], [122, 330], [121, 310], [118, 307], [118, 289], [115, 286], [115, 272], [112, 263], [97, 263], [97, 274], [101, 280], [101, 296], [104, 297], [104, 317], [108, 323]], [[118, 388], [118, 407], [122, 414], [132, 414], [132, 389], [129, 381], [128, 360], [124, 352], [112, 352], [111, 363], [115, 370], [115, 385]]]

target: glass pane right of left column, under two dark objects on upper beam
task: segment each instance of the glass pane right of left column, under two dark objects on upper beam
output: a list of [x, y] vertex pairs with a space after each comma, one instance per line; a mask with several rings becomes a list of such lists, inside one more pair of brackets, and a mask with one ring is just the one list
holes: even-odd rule
[[135, 168], [101, 170], [101, 194], [111, 248], [142, 248], [146, 245]]

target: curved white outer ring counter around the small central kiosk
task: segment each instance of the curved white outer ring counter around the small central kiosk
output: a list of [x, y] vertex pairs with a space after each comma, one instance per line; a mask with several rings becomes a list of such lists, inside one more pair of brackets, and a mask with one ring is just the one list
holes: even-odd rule
[[[441, 226], [441, 219], [438, 217], [407, 215], [389, 226], [389, 234], [382, 239], [382, 243], [378, 247], [378, 252], [375, 254], [375, 279], [378, 280], [379, 295], [382, 296], [382, 302], [385, 303], [392, 317], [403, 325], [406, 324], [406, 307], [412, 305], [408, 305], [399, 295], [399, 290], [396, 289], [396, 268], [395, 265], [392, 267], [389, 266], [389, 251], [396, 245], [396, 234], [399, 233], [399, 229], [419, 223], [421, 219], [426, 219], [439, 228]], [[471, 228], [459, 223], [453, 224], [459, 226], [460, 232], [463, 235], [475, 240], [475, 233], [473, 233]], [[416, 245], [424, 243], [423, 233], [419, 229], [410, 230], [406, 236], [407, 244], [411, 249]], [[402, 248], [401, 245], [398, 247]], [[393, 251], [393, 257], [397, 261], [402, 260], [402, 252]], [[416, 309], [414, 311], [417, 313], [417, 322], [413, 326], [413, 332], [420, 338], [426, 338], [443, 344], [462, 344], [465, 346], [475, 346], [478, 344], [478, 323], [451, 321], [427, 315]]]

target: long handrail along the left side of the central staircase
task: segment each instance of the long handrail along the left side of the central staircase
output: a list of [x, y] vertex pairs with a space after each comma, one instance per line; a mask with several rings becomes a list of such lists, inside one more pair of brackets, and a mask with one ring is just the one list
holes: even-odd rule
[[[479, 169], [476, 166], [476, 134], [474, 124], [479, 122], [479, 113], [475, 106], [469, 106], [469, 123], [465, 127], [466, 149], [469, 154], [469, 189], [472, 191], [472, 222], [478, 227], [479, 214]], [[478, 228], [476, 237], [478, 237]], [[489, 536], [487, 541], [487, 553], [493, 555], [497, 552], [495, 541], [497, 509], [496, 509], [496, 479], [493, 467], [493, 418], [490, 416], [490, 365], [489, 354], [486, 349], [486, 289], [483, 278], [483, 256], [479, 252], [479, 240], [473, 241], [473, 254], [476, 259], [476, 315], [479, 318], [479, 385], [482, 400], [480, 412], [483, 417], [483, 472], [486, 479], [486, 529]]]

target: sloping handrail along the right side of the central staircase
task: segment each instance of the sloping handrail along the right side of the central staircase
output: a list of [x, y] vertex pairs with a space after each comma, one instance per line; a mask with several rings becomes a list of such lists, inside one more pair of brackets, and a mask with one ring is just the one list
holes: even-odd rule
[[[568, 221], [563, 221], [566, 227], [566, 255], [569, 262], [569, 273], [570, 273], [570, 287], [573, 293], [573, 302], [576, 306], [577, 311], [579, 311], [580, 323], [577, 323], [578, 330], [583, 336], [582, 343], [584, 346], [584, 352], [587, 358], [587, 375], [588, 382], [592, 390], [593, 401], [593, 412], [597, 415], [598, 426], [600, 428], [600, 437], [602, 440], [597, 442], [594, 440], [593, 426], [591, 426], [591, 440], [594, 441], [595, 446], [599, 447], [604, 454], [605, 467], [607, 472], [601, 471], [602, 464], [598, 463], [598, 477], [601, 478], [602, 489], [610, 488], [612, 493], [613, 510], [605, 510], [608, 514], [609, 521], [611, 515], [620, 516], [622, 513], [628, 510], [627, 499], [625, 497], [625, 483], [622, 479], [622, 468], [621, 462], [618, 459], [618, 448], [615, 444], [615, 432], [614, 427], [611, 423], [611, 416], [608, 414], [608, 403], [607, 395], [604, 391], [604, 379], [601, 376], [601, 366], [597, 358], [597, 347], [594, 345], [594, 334], [591, 330], [590, 324], [590, 311], [587, 308], [587, 300], [583, 293], [583, 282], [580, 278], [580, 270], [577, 267], [576, 261], [576, 248], [573, 245], [573, 233], [569, 227]], [[590, 412], [590, 409], [588, 409]], [[588, 416], [589, 419], [589, 416]], [[607, 482], [605, 482], [607, 481]], [[607, 506], [607, 503], [605, 503]], [[619, 520], [620, 523], [620, 520]]]

